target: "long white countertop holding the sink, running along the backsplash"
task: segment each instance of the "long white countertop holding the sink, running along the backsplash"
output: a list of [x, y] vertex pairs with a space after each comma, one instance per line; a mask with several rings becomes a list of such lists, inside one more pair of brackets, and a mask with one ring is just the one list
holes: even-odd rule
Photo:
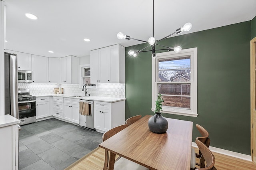
[[36, 97], [46, 97], [46, 96], [52, 96], [52, 97], [68, 97], [72, 99], [81, 99], [81, 100], [91, 100], [91, 101], [102, 101], [102, 102], [118, 102], [118, 101], [123, 101], [126, 100], [126, 98], [116, 98], [116, 97], [100, 97], [100, 96], [87, 96], [87, 97], [71, 97], [74, 95], [67, 95], [67, 94], [49, 94], [49, 95], [34, 95]]

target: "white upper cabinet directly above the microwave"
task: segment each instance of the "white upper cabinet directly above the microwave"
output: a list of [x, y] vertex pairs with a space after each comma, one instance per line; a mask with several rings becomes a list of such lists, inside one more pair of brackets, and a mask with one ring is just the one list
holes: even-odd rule
[[17, 52], [18, 70], [32, 71], [32, 54]]

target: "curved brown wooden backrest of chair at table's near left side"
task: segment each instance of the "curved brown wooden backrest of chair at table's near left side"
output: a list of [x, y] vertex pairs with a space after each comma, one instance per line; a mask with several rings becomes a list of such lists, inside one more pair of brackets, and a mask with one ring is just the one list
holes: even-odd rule
[[[120, 125], [118, 127], [114, 127], [112, 129], [108, 130], [107, 132], [105, 132], [102, 135], [103, 142], [105, 140], [107, 140], [108, 138], [114, 136], [115, 134], [117, 134], [118, 132], [120, 132], [121, 130], [123, 130], [124, 128], [126, 128], [128, 126], [129, 126], [128, 124], [124, 124], [124, 125]], [[108, 161], [109, 161], [108, 151], [105, 150], [105, 161], [104, 161], [103, 170], [107, 170], [108, 169]]]

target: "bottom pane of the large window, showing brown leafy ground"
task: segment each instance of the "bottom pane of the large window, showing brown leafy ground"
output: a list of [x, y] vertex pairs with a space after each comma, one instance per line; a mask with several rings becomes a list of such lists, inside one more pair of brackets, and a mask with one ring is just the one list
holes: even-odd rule
[[190, 109], [190, 97], [162, 96], [163, 106], [179, 107]]

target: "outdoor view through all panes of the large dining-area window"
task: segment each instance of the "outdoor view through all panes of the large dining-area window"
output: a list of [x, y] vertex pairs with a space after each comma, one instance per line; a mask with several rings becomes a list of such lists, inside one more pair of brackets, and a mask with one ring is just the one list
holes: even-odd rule
[[163, 106], [190, 109], [190, 56], [158, 60], [158, 93]]

